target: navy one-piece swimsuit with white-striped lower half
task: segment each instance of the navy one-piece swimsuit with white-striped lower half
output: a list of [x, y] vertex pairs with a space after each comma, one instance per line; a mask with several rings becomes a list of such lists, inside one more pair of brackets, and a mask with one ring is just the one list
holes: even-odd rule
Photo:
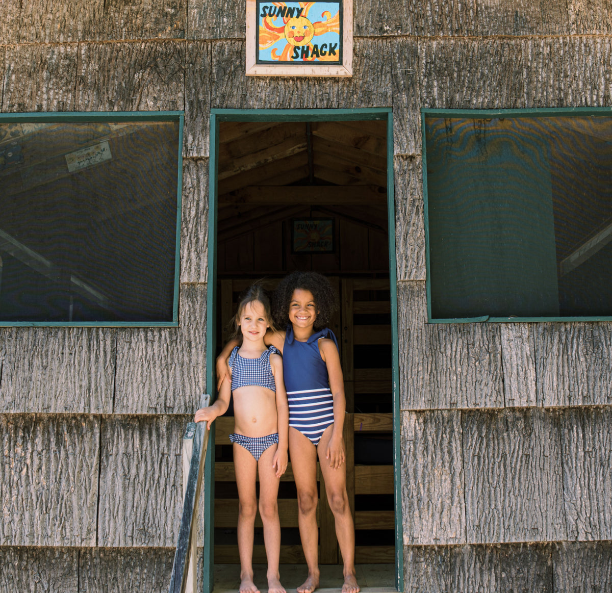
[[289, 426], [318, 445], [325, 429], [334, 423], [334, 398], [329, 388], [327, 365], [319, 352], [319, 338], [338, 342], [332, 330], [322, 329], [308, 341], [294, 339], [287, 327], [283, 345], [283, 376], [289, 402]]

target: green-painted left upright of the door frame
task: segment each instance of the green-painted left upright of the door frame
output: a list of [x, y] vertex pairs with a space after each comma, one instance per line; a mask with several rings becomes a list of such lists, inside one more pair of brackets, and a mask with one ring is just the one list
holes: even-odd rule
[[[217, 352], [217, 165], [219, 154], [219, 119], [211, 113], [210, 158], [208, 163], [208, 275], [206, 285], [206, 392], [211, 403], [217, 397], [215, 359]], [[203, 593], [214, 588], [215, 534], [215, 425], [211, 431], [212, 447], [206, 453], [204, 473], [204, 550]]]

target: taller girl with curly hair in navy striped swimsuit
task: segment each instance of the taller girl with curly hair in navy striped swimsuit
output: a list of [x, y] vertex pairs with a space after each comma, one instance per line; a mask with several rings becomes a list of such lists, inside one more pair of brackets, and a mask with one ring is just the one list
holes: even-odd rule
[[[357, 593], [355, 531], [346, 493], [342, 438], [344, 381], [338, 343], [332, 330], [326, 327], [338, 308], [338, 298], [323, 275], [293, 272], [278, 285], [272, 304], [274, 321], [286, 329], [269, 330], [265, 341], [283, 355], [289, 402], [289, 456], [297, 488], [300, 538], [308, 565], [307, 579], [297, 587], [297, 593], [313, 593], [319, 585], [317, 458], [344, 564], [342, 593]], [[217, 359], [220, 385], [228, 375], [226, 359], [233, 346], [230, 341]]]

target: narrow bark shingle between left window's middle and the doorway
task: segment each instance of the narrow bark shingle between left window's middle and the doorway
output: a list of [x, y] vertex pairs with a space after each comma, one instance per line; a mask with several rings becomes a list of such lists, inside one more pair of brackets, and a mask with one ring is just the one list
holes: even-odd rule
[[183, 161], [181, 282], [207, 280], [208, 164], [208, 159]]

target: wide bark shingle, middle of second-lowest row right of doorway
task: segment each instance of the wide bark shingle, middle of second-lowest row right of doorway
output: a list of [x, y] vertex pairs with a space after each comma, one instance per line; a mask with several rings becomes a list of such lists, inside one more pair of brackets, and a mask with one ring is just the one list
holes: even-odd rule
[[463, 412], [468, 542], [565, 539], [559, 441], [542, 409]]

